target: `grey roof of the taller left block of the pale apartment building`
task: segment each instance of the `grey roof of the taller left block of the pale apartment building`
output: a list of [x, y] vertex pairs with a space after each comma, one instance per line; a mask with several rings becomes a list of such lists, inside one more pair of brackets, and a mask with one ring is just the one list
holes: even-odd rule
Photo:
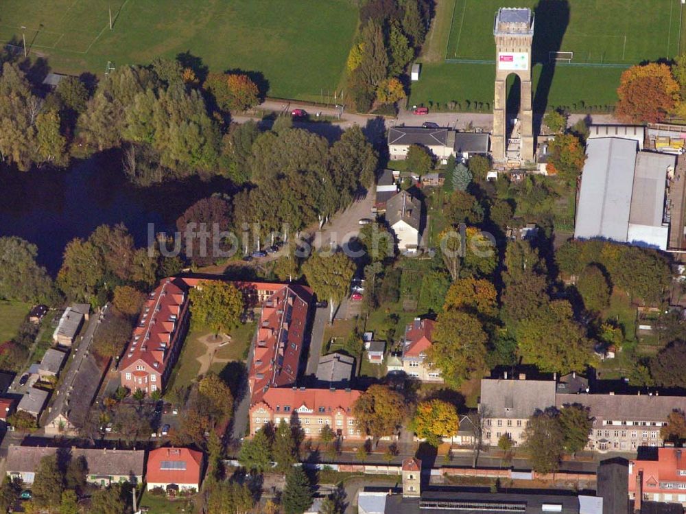
[[489, 418], [525, 419], [536, 409], [555, 406], [555, 388], [554, 380], [484, 378], [480, 408], [487, 409]]

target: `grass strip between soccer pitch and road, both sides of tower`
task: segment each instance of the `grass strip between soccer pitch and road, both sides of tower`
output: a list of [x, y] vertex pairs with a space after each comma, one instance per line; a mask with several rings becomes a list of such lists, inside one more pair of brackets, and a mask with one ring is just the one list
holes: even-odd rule
[[[564, 107], [585, 112], [596, 106], [610, 106], [617, 102], [617, 86], [622, 68], [557, 66], [552, 80], [543, 66], [534, 67], [534, 109]], [[488, 64], [451, 63], [427, 64], [421, 78], [412, 83], [410, 105], [428, 106], [431, 110], [449, 110], [447, 104], [456, 102], [456, 110], [490, 113], [493, 106], [495, 66]], [[537, 88], [541, 86], [540, 90]]]

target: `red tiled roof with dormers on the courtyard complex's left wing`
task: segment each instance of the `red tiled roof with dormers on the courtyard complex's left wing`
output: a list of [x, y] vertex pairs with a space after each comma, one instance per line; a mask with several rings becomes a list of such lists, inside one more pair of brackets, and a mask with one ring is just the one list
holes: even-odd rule
[[163, 373], [167, 356], [172, 353], [171, 344], [181, 344], [174, 339], [174, 331], [188, 306], [188, 295], [183, 286], [182, 281], [165, 279], [150, 293], [119, 369], [126, 369], [140, 359], [158, 373]]

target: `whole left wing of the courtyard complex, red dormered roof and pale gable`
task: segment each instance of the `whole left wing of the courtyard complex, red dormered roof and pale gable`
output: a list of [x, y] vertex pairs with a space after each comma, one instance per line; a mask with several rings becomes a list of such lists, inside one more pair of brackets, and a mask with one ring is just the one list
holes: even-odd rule
[[152, 291], [119, 363], [121, 385], [148, 395], [163, 391], [178, 360], [189, 326], [185, 283], [164, 279]]

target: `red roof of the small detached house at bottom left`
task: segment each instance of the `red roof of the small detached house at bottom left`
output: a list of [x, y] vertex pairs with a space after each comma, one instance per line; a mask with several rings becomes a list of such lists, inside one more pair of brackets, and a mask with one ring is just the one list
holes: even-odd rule
[[[175, 467], [167, 463], [184, 463], [185, 466], [178, 465], [177, 467], [185, 467], [185, 469], [163, 469], [163, 467]], [[145, 482], [149, 484], [198, 484], [200, 487], [201, 468], [201, 452], [188, 448], [157, 448], [147, 455]]]

